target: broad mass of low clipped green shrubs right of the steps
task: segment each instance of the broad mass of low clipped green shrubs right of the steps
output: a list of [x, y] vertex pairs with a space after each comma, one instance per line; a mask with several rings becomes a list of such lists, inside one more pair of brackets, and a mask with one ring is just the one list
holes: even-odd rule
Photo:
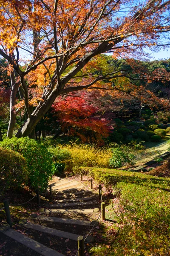
[[170, 255], [170, 178], [115, 169], [88, 171], [108, 189], [113, 185], [115, 195], [105, 199], [109, 221], [101, 222], [99, 242], [90, 255]]

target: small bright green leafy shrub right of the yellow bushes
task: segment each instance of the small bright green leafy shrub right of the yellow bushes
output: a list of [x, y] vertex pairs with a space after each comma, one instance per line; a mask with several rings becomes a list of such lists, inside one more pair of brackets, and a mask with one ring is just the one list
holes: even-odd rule
[[130, 153], [129, 148], [124, 146], [122, 148], [112, 148], [112, 157], [109, 160], [111, 167], [120, 168], [126, 163], [133, 163], [135, 156]]

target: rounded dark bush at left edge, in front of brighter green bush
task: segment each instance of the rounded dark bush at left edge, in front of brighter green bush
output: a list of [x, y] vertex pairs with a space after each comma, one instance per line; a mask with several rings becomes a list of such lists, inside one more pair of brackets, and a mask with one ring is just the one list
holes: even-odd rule
[[20, 188], [28, 181], [26, 159], [19, 153], [0, 148], [0, 195], [9, 188]]

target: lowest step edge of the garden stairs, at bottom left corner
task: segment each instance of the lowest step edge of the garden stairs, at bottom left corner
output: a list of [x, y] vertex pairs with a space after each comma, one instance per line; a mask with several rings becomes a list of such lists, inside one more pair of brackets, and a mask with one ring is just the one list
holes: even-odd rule
[[12, 230], [2, 230], [0, 229], [0, 232], [2, 232], [4, 235], [11, 237], [15, 241], [19, 242], [20, 244], [25, 245], [27, 248], [30, 248], [31, 250], [36, 251], [37, 253], [40, 253], [42, 256], [64, 256], [64, 254], [59, 253], [43, 244], [40, 244], [39, 242], [24, 236], [23, 234]]

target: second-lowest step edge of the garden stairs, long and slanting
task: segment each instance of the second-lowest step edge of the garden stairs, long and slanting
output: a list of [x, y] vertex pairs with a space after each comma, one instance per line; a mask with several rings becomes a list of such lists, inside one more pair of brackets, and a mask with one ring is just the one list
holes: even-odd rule
[[79, 237], [79, 235], [73, 234], [73, 233], [68, 233], [62, 230], [56, 230], [54, 228], [51, 227], [45, 227], [45, 226], [41, 226], [41, 225], [37, 225], [37, 224], [33, 224], [33, 223], [26, 223], [24, 224], [24, 227], [28, 227], [31, 228], [33, 230], [37, 230], [43, 233], [48, 233], [50, 235], [54, 235], [54, 236], [59, 236], [59, 237], [63, 237], [63, 238], [69, 238], [71, 240], [77, 241], [77, 238]]

